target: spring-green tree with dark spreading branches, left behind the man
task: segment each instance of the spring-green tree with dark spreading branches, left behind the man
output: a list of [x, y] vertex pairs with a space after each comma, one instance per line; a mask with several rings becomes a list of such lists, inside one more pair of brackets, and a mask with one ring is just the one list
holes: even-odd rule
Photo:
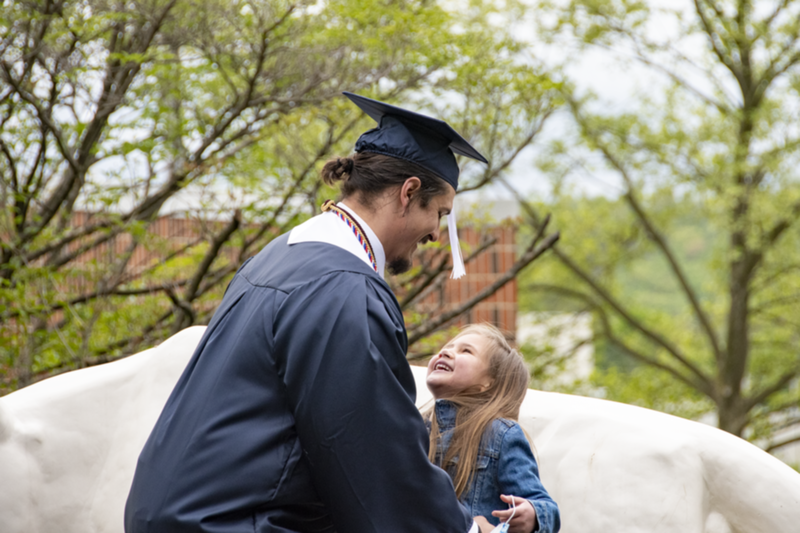
[[[493, 9], [5, 2], [0, 389], [207, 322], [239, 265], [333, 194], [319, 166], [371, 127], [342, 90], [432, 108], [499, 163], [467, 183], [494, 179], [558, 96]], [[173, 223], [179, 239], [157, 229]]]

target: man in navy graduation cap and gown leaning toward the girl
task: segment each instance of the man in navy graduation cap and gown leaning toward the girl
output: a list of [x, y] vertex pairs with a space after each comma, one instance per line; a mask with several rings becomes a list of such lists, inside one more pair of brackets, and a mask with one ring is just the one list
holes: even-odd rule
[[343, 202], [231, 281], [142, 450], [128, 533], [478, 530], [427, 459], [382, 278], [438, 239], [453, 151], [486, 160], [444, 122], [345, 94], [380, 125], [323, 170]]

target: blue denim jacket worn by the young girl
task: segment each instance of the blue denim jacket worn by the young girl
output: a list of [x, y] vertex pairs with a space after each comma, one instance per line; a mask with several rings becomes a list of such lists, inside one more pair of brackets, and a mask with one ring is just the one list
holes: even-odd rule
[[[450, 446], [457, 409], [447, 400], [436, 401], [436, 420], [441, 431], [437, 463], [442, 461]], [[454, 466], [448, 469], [448, 474], [451, 478], [455, 475]], [[508, 508], [508, 504], [500, 499], [501, 494], [520, 496], [533, 504], [538, 518], [535, 532], [558, 532], [561, 527], [558, 505], [539, 479], [539, 467], [530, 444], [520, 425], [504, 418], [495, 419], [484, 433], [478, 452], [478, 468], [472, 483], [461, 495], [461, 503], [472, 516], [485, 516], [489, 522], [498, 525], [500, 521], [492, 516], [492, 511]]]

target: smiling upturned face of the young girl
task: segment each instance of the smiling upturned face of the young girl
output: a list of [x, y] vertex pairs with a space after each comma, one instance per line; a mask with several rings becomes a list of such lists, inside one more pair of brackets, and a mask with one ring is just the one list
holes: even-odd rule
[[487, 340], [478, 333], [459, 335], [428, 363], [426, 383], [433, 397], [451, 398], [471, 387], [491, 385], [486, 357]]

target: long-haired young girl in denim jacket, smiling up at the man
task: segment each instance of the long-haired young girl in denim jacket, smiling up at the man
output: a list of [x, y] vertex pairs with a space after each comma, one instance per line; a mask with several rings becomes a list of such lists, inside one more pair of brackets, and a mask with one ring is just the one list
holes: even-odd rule
[[507, 522], [510, 533], [556, 533], [558, 506], [516, 421], [528, 379], [522, 357], [497, 328], [462, 330], [428, 363], [427, 385], [436, 399], [423, 415], [428, 455], [450, 475], [473, 516]]

